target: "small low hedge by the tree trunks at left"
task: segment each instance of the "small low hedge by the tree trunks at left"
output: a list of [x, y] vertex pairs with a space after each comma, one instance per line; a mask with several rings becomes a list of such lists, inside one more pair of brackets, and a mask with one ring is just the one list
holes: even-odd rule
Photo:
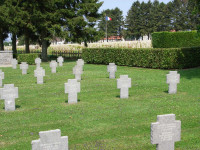
[[39, 54], [18, 54], [17, 60], [18, 63], [27, 62], [29, 65], [35, 64], [35, 59], [39, 56]]

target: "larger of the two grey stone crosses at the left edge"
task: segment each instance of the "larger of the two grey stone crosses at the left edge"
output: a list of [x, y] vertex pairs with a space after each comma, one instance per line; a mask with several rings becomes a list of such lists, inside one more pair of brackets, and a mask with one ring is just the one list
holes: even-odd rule
[[15, 98], [18, 98], [18, 87], [14, 87], [14, 84], [4, 84], [4, 87], [0, 89], [1, 99], [5, 100], [5, 110], [15, 110]]

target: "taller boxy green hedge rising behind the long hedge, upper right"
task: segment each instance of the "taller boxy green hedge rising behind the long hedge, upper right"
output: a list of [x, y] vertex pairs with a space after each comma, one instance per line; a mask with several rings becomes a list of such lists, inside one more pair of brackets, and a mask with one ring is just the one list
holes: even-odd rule
[[200, 47], [197, 31], [155, 32], [152, 34], [153, 48]]

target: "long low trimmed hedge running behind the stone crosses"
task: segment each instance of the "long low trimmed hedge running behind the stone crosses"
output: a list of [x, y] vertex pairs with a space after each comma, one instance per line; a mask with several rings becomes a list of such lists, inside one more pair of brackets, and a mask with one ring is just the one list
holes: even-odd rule
[[160, 69], [182, 69], [200, 66], [200, 47], [193, 48], [84, 48], [87, 63]]

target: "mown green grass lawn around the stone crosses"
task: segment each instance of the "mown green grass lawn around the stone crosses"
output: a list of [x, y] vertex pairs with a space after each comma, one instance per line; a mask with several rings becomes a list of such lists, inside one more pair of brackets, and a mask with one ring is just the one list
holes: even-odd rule
[[132, 79], [129, 98], [120, 99], [116, 79], [109, 79], [106, 65], [85, 64], [78, 104], [67, 103], [64, 83], [73, 79], [74, 61], [52, 74], [49, 63], [44, 84], [37, 85], [36, 66], [22, 75], [19, 66], [0, 68], [4, 84], [19, 88], [16, 111], [5, 112], [0, 101], [0, 149], [28, 150], [40, 131], [61, 129], [71, 150], [155, 150], [150, 142], [151, 123], [157, 115], [176, 114], [181, 120], [181, 141], [176, 150], [200, 149], [200, 68], [179, 70], [178, 93], [169, 95], [166, 74], [155, 70], [118, 66], [116, 78]]

